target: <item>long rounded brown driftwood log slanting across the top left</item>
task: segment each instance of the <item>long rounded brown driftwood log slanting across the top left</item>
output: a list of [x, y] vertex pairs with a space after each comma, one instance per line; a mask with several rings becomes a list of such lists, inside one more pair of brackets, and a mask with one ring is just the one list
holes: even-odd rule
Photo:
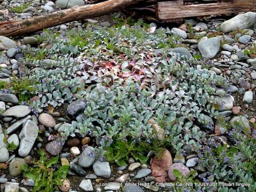
[[[66, 22], [98, 17], [143, 2], [147, 2], [147, 0], [108, 0], [101, 3], [56, 11], [38, 17], [31, 17], [25, 20], [0, 22], [0, 35], [19, 36], [44, 28], [61, 25]], [[149, 2], [156, 1], [150, 0]]]

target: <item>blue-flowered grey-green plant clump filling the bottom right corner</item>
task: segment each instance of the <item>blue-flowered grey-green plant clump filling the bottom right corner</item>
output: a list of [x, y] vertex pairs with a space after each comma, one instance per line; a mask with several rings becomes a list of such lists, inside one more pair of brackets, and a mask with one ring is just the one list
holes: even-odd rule
[[[227, 143], [222, 137], [209, 138], [203, 154], [199, 154], [201, 165], [209, 171], [204, 179], [206, 182], [217, 180], [226, 183], [249, 183], [249, 188], [238, 187], [237, 191], [245, 188], [255, 191], [256, 131], [252, 135], [245, 135], [242, 130], [231, 129], [229, 123], [223, 125], [228, 130], [230, 142]], [[228, 187], [222, 187], [222, 190], [230, 191]]]

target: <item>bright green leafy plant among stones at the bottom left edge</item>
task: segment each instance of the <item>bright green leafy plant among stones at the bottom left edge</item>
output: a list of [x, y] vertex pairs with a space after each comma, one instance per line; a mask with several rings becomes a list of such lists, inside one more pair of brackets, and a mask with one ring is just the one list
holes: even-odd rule
[[58, 190], [58, 186], [63, 185], [63, 181], [67, 177], [69, 166], [63, 165], [57, 169], [55, 165], [59, 163], [58, 156], [48, 160], [42, 150], [39, 150], [38, 154], [40, 159], [32, 162], [33, 167], [27, 164], [22, 167], [24, 177], [35, 181], [35, 187], [32, 192], [52, 192]]

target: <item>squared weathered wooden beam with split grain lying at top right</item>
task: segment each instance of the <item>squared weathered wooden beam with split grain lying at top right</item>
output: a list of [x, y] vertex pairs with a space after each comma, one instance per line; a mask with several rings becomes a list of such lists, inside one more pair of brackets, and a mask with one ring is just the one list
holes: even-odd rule
[[198, 17], [256, 11], [256, 0], [221, 0], [221, 3], [183, 5], [183, 1], [159, 2], [157, 19], [170, 20], [185, 17]]

